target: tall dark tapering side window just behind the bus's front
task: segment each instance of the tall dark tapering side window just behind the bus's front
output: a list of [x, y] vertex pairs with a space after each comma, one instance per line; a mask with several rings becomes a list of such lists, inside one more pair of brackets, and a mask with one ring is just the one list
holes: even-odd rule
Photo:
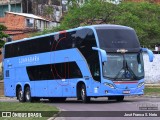
[[100, 81], [98, 52], [92, 50], [92, 47], [97, 47], [97, 44], [94, 33], [91, 29], [82, 29], [76, 32], [76, 47], [86, 59], [93, 79]]

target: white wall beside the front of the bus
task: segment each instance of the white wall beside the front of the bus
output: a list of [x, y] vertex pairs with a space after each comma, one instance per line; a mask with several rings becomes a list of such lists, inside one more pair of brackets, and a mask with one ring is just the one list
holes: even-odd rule
[[149, 62], [148, 55], [143, 55], [145, 82], [160, 84], [160, 54], [154, 54], [154, 61]]

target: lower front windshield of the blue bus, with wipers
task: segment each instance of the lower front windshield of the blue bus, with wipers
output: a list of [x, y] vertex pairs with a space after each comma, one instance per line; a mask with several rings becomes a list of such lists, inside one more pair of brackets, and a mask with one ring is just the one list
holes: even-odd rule
[[140, 80], [144, 77], [141, 53], [108, 53], [103, 64], [104, 78], [112, 80]]

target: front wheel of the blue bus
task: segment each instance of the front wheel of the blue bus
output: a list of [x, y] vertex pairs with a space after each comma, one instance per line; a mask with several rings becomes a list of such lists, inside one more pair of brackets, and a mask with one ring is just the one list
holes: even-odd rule
[[87, 97], [86, 87], [84, 84], [81, 86], [81, 99], [83, 103], [90, 102], [90, 97]]

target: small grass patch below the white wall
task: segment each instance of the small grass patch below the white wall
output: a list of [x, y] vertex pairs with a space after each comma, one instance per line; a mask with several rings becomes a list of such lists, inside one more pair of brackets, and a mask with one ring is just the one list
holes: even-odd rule
[[160, 87], [145, 87], [145, 95], [160, 96]]

